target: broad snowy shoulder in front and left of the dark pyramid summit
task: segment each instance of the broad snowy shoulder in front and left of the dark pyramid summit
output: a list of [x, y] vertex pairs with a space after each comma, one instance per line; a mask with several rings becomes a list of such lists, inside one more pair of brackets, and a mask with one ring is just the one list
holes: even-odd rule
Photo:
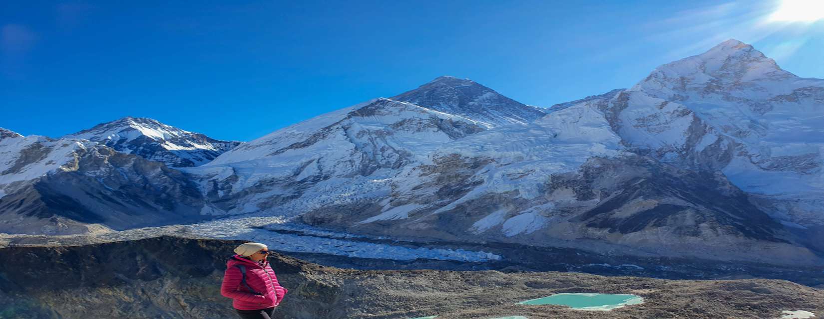
[[[294, 215], [385, 196], [388, 179], [438, 145], [482, 131], [478, 123], [392, 99], [285, 127], [185, 169], [205, 179], [229, 213]], [[235, 204], [237, 203], [237, 204]]]

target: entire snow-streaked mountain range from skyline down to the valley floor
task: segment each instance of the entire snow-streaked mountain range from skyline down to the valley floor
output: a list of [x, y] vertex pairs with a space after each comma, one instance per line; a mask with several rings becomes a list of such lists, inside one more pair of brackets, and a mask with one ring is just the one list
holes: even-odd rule
[[0, 233], [277, 217], [409, 243], [824, 265], [824, 80], [730, 39], [540, 109], [442, 76], [246, 143], [0, 131]]

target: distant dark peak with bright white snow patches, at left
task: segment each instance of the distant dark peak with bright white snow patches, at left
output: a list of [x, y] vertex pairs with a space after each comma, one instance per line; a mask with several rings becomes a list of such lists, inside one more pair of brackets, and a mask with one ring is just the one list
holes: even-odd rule
[[162, 162], [169, 167], [206, 164], [232, 150], [239, 141], [218, 141], [200, 133], [187, 132], [151, 118], [120, 118], [64, 137], [100, 142], [125, 154]]

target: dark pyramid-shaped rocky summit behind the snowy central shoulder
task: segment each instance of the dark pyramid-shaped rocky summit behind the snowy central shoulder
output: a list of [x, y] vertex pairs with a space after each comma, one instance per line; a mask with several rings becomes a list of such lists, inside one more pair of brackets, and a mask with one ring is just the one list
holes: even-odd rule
[[541, 109], [509, 99], [475, 81], [453, 76], [438, 77], [391, 99], [471, 118], [485, 127], [530, 123], [546, 114]]

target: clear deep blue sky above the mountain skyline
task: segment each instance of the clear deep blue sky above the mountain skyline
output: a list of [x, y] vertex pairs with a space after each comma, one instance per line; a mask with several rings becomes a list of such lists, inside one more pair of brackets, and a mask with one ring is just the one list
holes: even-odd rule
[[548, 107], [729, 38], [824, 77], [824, 21], [767, 22], [778, 3], [7, 0], [0, 127], [135, 116], [249, 141], [442, 75]]

